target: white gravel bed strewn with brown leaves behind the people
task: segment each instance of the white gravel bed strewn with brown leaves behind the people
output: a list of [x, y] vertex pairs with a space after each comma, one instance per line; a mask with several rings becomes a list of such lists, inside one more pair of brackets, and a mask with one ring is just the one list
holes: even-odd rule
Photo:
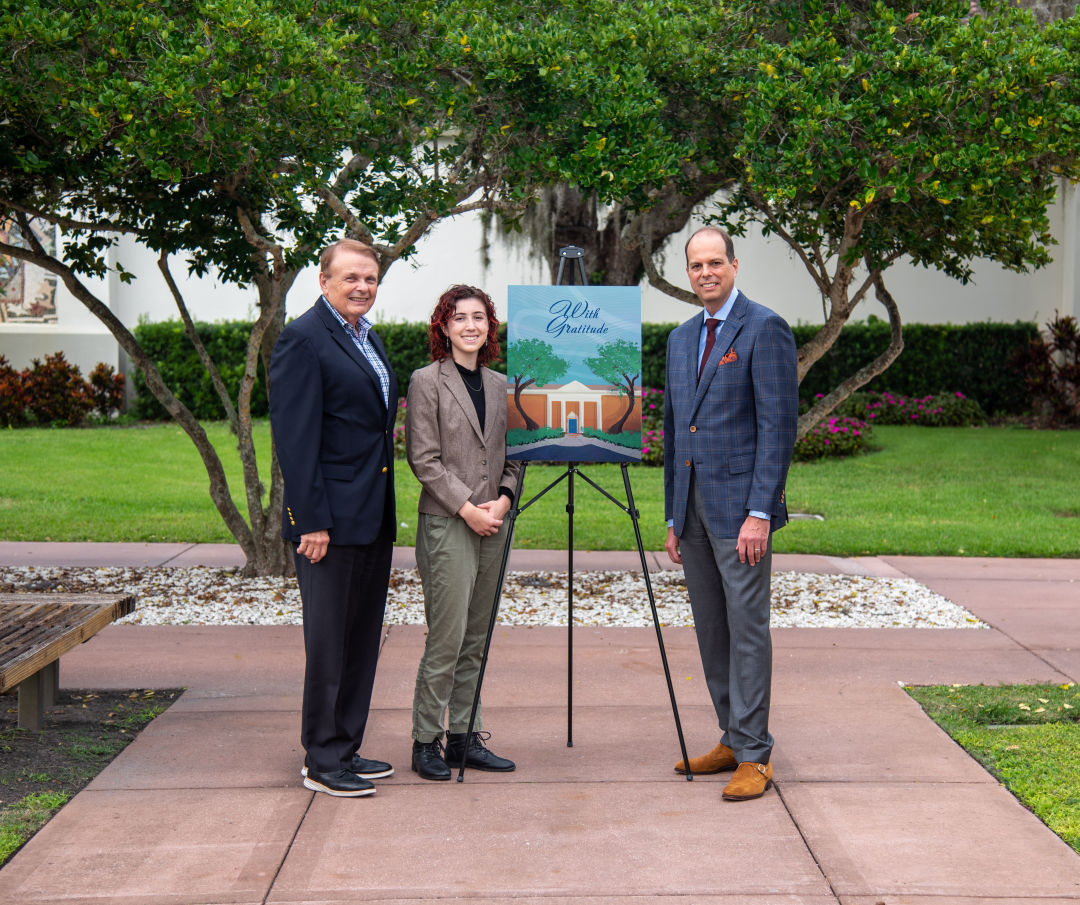
[[[693, 625], [678, 571], [651, 572], [662, 625]], [[510, 572], [499, 607], [503, 625], [566, 625], [565, 572]], [[235, 569], [167, 567], [0, 567], [0, 591], [132, 593], [138, 606], [121, 622], [140, 625], [299, 625], [300, 594], [293, 579], [243, 578]], [[415, 569], [394, 569], [388, 625], [423, 624], [423, 594]], [[638, 572], [578, 571], [575, 625], [651, 625]], [[773, 627], [985, 629], [968, 610], [914, 579], [774, 572]]]

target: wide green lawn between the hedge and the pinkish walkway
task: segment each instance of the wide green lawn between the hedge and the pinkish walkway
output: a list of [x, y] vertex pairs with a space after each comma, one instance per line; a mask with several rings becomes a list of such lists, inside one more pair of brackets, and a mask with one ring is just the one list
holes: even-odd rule
[[[240, 467], [224, 424], [208, 432], [222, 451], [234, 494]], [[257, 426], [260, 462], [269, 428]], [[793, 465], [796, 521], [777, 536], [785, 553], [907, 553], [969, 556], [1080, 556], [1080, 431], [1007, 428], [878, 428], [877, 451]], [[529, 465], [525, 498], [563, 474]], [[663, 546], [663, 472], [632, 467], [646, 549]], [[582, 473], [622, 500], [617, 465]], [[174, 424], [0, 432], [0, 538], [5, 540], [229, 541], [206, 491], [194, 447]], [[416, 531], [419, 487], [396, 469], [399, 542]], [[237, 497], [243, 511], [242, 497]], [[565, 548], [564, 481], [522, 514], [519, 548]], [[633, 549], [629, 516], [578, 476], [575, 549]]]

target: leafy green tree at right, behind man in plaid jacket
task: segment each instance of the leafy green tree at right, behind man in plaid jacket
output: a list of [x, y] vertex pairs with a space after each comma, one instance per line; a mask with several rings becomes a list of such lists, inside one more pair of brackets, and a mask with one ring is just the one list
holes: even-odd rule
[[[696, 82], [740, 123], [738, 175], [712, 219], [751, 224], [793, 251], [824, 324], [798, 352], [801, 379], [873, 291], [891, 324], [877, 359], [799, 421], [800, 434], [895, 360], [906, 257], [967, 282], [975, 258], [1025, 271], [1050, 260], [1047, 215], [1080, 176], [1080, 21], [1039, 26], [1009, 4], [754, 4], [746, 46]], [[726, 67], [733, 68], [729, 77]], [[648, 251], [643, 243], [643, 251]], [[645, 264], [654, 285], [694, 301]]]

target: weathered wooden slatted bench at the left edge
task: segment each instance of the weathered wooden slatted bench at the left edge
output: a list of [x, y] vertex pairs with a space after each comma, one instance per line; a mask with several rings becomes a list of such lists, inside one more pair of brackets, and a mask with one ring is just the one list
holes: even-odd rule
[[18, 687], [18, 725], [56, 703], [60, 657], [135, 609], [133, 594], [0, 594], [0, 692]]

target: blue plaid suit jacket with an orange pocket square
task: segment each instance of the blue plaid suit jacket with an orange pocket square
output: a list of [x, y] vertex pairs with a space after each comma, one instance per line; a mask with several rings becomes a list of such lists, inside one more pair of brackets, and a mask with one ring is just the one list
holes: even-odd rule
[[795, 338], [739, 293], [698, 381], [701, 314], [667, 338], [664, 514], [681, 536], [690, 469], [716, 537], [737, 538], [750, 510], [787, 522], [784, 484], [798, 421]]

